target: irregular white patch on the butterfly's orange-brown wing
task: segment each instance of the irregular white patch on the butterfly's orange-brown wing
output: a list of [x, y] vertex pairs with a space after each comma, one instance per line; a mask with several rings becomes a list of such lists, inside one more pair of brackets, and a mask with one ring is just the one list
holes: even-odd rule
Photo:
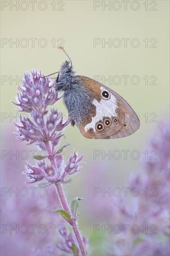
[[[105, 89], [102, 86], [101, 86], [100, 89], [101, 89], [101, 92], [103, 90], [108, 91], [107, 89]], [[118, 117], [117, 113], [115, 112], [116, 108], [118, 108], [118, 106], [116, 105], [116, 98], [109, 91], [108, 91], [108, 93], [110, 94], [110, 99], [109, 100], [104, 100], [102, 98], [100, 102], [98, 102], [95, 99], [92, 101], [92, 104], [94, 104], [94, 106], [96, 107], [96, 116], [94, 116], [92, 118], [91, 123], [88, 123], [85, 126], [85, 128], [84, 128], [85, 132], [87, 132], [89, 128], [93, 128], [93, 130], [95, 132], [96, 131], [96, 129], [95, 129], [96, 123], [98, 121], [103, 120], [103, 117], [109, 117], [110, 119], [113, 116]]]

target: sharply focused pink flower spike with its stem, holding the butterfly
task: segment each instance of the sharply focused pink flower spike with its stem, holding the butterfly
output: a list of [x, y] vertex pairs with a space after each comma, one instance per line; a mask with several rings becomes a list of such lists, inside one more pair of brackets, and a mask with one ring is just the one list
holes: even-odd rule
[[[32, 79], [29, 74], [25, 75], [23, 87], [18, 87], [20, 90], [20, 94], [18, 94], [19, 103], [14, 103], [20, 107], [20, 111], [30, 112], [31, 118], [22, 118], [20, 115], [20, 123], [15, 124], [18, 130], [16, 135], [19, 141], [28, 141], [29, 144], [37, 144], [40, 148], [45, 150], [46, 155], [43, 157], [34, 156], [38, 161], [43, 160], [39, 162], [38, 167], [31, 166], [27, 163], [27, 169], [24, 174], [31, 182], [26, 183], [34, 183], [46, 179], [47, 183], [41, 182], [39, 184], [40, 187], [47, 187], [52, 183], [56, 185], [62, 206], [61, 210], [69, 216], [71, 221], [68, 221], [67, 218], [65, 220], [72, 226], [76, 235], [74, 239], [77, 239], [77, 245], [80, 247], [82, 254], [86, 255], [86, 249], [77, 228], [76, 219], [72, 216], [71, 209], [69, 209], [63, 191], [61, 191], [62, 186], [60, 184], [60, 182], [68, 182], [68, 179], [65, 178], [67, 174], [71, 175], [81, 170], [79, 162], [82, 160], [82, 157], [77, 159], [75, 152], [75, 154], [70, 157], [62, 173], [63, 159], [59, 159], [58, 156], [61, 156], [63, 149], [69, 144], [64, 145], [57, 151], [54, 150], [54, 147], [59, 143], [63, 135], [63, 128], [69, 124], [70, 120], [63, 121], [63, 115], [58, 113], [57, 109], [52, 108], [50, 112], [47, 110], [49, 105], [53, 105], [60, 99], [58, 98], [54, 84], [50, 84], [50, 79], [41, 77], [41, 73], [38, 74], [37, 71], [31, 72], [31, 74]], [[47, 161], [50, 163], [47, 164]], [[70, 236], [72, 236], [72, 234]], [[40, 251], [38, 250], [36, 254], [39, 255], [40, 253], [46, 255], [50, 253], [50, 255], [56, 255], [56, 251], [53, 249], [54, 247], [50, 247], [50, 251], [47, 248]], [[78, 255], [76, 242], [72, 243], [72, 252]]]

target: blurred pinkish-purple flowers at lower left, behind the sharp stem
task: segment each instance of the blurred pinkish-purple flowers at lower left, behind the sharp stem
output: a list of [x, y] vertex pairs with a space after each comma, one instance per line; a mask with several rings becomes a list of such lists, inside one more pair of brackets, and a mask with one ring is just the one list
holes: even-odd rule
[[[12, 135], [12, 128], [4, 132], [2, 143], [6, 145], [6, 150], [14, 153], [17, 147], [19, 152], [25, 151], [24, 145], [16, 142]], [[6, 144], [6, 140], [9, 143]], [[20, 173], [24, 162], [17, 155], [7, 155], [2, 161], [0, 255], [34, 256], [42, 250], [46, 254], [41, 255], [50, 256], [50, 247], [58, 240], [51, 227], [64, 225], [63, 220], [56, 218], [56, 214], [52, 212], [59, 207], [57, 194], [55, 187], [23, 186], [23, 176]], [[43, 227], [47, 229], [44, 234], [41, 233], [44, 232]], [[56, 246], [53, 249], [53, 255], [60, 255]]]

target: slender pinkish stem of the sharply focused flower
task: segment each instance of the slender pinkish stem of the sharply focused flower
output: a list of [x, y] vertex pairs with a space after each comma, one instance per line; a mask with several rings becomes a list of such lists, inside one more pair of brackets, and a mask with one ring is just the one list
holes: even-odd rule
[[[45, 141], [45, 147], [47, 149], [47, 152], [50, 156], [52, 156], [52, 151], [51, 151], [51, 148], [50, 148], [50, 143], [49, 141]], [[51, 162], [51, 166], [52, 168], [54, 168], [54, 170], [57, 170], [57, 166], [56, 166], [56, 162], [55, 162], [55, 159], [54, 157], [50, 157], [50, 162]], [[77, 239], [77, 242], [79, 244], [79, 247], [80, 247], [80, 250], [82, 252], [82, 256], [87, 256], [87, 251], [86, 251], [86, 248], [85, 248], [85, 245], [82, 241], [82, 236], [80, 235], [80, 231], [77, 227], [77, 224], [76, 224], [76, 220], [75, 218], [72, 216], [72, 213], [71, 213], [71, 210], [69, 209], [69, 205], [67, 203], [67, 200], [66, 200], [66, 197], [63, 193], [63, 187], [61, 185], [60, 182], [57, 182], [56, 184], [56, 188], [57, 188], [57, 193], [58, 193], [58, 196], [59, 196], [59, 200], [61, 202], [61, 205], [63, 207], [63, 209], [65, 211], [67, 211], [69, 213], [69, 215], [71, 216], [71, 222], [69, 223], [75, 233], [75, 236], [76, 236], [76, 239]]]

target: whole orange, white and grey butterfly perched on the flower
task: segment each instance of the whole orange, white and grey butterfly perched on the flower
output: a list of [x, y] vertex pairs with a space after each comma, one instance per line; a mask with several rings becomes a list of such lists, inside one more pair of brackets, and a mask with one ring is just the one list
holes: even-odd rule
[[139, 118], [131, 106], [107, 86], [76, 75], [70, 58], [56, 73], [55, 88], [57, 92], [63, 91], [71, 125], [76, 124], [86, 138], [122, 138], [139, 129]]

